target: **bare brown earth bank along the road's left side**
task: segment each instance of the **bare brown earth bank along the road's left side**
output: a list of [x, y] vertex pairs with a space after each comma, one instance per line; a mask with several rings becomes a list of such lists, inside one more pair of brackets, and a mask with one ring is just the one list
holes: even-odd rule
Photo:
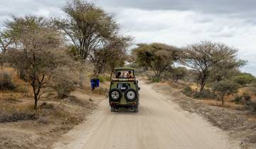
[[[96, 108], [106, 96], [73, 92], [62, 100], [41, 100], [35, 120], [0, 123], [0, 148], [34, 149], [50, 148], [58, 138], [73, 126], [84, 121], [87, 114]], [[31, 99], [22, 99], [18, 104], [33, 104]]]

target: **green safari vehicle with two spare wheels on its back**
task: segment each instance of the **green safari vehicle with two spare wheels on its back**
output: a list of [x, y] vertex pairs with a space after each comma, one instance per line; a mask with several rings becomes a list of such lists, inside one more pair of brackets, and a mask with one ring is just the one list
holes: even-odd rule
[[134, 68], [115, 68], [109, 92], [111, 111], [126, 108], [138, 112], [139, 89], [138, 80], [134, 75]]

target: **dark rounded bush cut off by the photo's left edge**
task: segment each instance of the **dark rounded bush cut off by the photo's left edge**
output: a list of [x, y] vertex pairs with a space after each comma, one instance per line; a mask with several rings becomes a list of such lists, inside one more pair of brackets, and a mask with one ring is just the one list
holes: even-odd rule
[[14, 90], [15, 84], [11, 80], [11, 75], [8, 72], [0, 72], [0, 90]]

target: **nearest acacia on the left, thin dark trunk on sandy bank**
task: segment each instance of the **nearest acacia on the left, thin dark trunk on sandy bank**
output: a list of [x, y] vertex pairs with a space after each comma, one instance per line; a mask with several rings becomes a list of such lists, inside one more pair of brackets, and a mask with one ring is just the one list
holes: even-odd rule
[[7, 60], [19, 72], [22, 71], [31, 84], [34, 109], [37, 109], [38, 100], [45, 93], [43, 88], [52, 77], [53, 70], [68, 60], [61, 49], [60, 35], [45, 18], [36, 16], [13, 17], [6, 27], [16, 45], [8, 51]]

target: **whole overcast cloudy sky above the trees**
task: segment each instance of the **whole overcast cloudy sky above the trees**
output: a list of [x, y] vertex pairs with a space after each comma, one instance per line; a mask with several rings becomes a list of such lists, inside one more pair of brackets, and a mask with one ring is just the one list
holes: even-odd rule
[[[0, 0], [0, 26], [11, 14], [64, 16], [67, 0]], [[203, 40], [225, 43], [247, 60], [242, 72], [256, 75], [255, 0], [91, 0], [114, 14], [122, 33], [136, 43], [186, 47]]]

